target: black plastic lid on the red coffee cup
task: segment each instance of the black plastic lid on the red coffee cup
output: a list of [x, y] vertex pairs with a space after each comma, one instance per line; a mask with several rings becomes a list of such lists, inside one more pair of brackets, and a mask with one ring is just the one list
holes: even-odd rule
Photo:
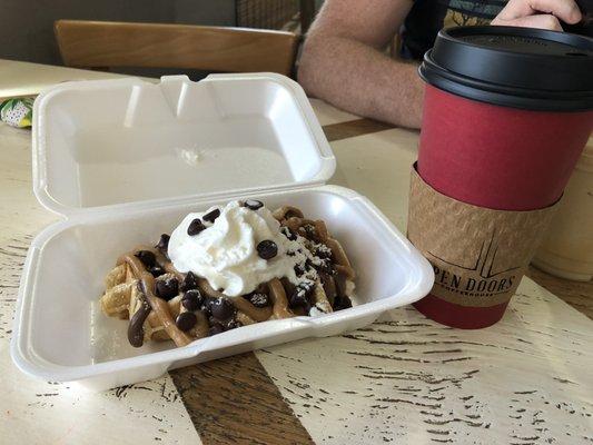
[[514, 27], [442, 30], [421, 77], [454, 95], [531, 110], [593, 109], [593, 39]]

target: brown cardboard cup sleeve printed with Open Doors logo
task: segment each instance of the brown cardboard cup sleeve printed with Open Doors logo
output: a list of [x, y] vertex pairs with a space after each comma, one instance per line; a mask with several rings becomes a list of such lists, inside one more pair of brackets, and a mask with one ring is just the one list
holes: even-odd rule
[[466, 307], [508, 301], [556, 204], [530, 211], [473, 206], [434, 190], [414, 166], [407, 236], [433, 265], [431, 294]]

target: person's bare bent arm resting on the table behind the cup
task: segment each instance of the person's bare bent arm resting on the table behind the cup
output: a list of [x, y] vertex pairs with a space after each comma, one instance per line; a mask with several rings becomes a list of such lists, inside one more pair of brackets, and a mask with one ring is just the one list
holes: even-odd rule
[[417, 65], [382, 53], [411, 8], [412, 0], [327, 0], [305, 41], [300, 85], [356, 115], [419, 128]]

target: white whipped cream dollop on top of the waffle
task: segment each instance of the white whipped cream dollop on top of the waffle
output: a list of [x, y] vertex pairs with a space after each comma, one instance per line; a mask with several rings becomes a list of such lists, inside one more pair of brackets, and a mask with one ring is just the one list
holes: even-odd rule
[[[220, 215], [214, 222], [204, 219], [216, 210]], [[196, 219], [206, 228], [188, 235]], [[263, 259], [258, 255], [257, 246], [264, 240], [276, 244], [275, 257]], [[168, 255], [177, 270], [206, 278], [211, 287], [229, 297], [249, 294], [273, 278], [287, 277], [295, 285], [315, 278], [296, 276], [295, 265], [304, 264], [310, 253], [280, 231], [271, 212], [266, 207], [256, 210], [244, 207], [239, 201], [187, 215], [171, 234]]]

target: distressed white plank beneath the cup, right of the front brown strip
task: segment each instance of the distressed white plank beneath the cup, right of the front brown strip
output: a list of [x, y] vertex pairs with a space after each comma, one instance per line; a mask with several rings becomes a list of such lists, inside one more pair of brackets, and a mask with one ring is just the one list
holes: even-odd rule
[[318, 444], [590, 444], [592, 322], [525, 278], [497, 325], [414, 308], [257, 353]]

